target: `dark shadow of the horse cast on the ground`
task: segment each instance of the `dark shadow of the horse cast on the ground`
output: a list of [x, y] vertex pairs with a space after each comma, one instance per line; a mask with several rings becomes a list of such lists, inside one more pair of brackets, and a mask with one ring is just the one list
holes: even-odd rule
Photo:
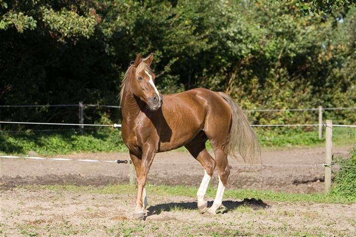
[[[213, 201], [208, 201], [208, 207], [213, 204]], [[223, 201], [223, 208], [221, 213], [228, 213], [240, 206], [247, 206], [253, 210], [267, 209], [270, 206], [263, 202], [261, 199], [256, 198], [245, 198], [242, 201]], [[197, 202], [170, 202], [157, 204], [150, 206], [147, 209], [147, 216], [159, 215], [161, 212], [171, 212], [171, 211], [184, 211], [184, 210], [198, 210]]]

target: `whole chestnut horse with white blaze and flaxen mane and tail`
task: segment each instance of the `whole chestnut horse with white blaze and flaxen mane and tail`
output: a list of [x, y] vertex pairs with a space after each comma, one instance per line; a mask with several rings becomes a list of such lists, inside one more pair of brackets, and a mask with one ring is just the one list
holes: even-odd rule
[[[204, 168], [198, 190], [198, 209], [216, 215], [230, 174], [227, 155], [235, 147], [245, 162], [260, 158], [260, 147], [246, 115], [228, 95], [197, 88], [162, 96], [156, 75], [150, 69], [153, 54], [141, 59], [138, 54], [121, 84], [122, 138], [130, 151], [137, 175], [137, 200], [134, 219], [142, 219], [147, 207], [146, 177], [156, 152], [184, 146]], [[205, 148], [209, 139], [215, 159]], [[219, 185], [213, 205], [207, 209], [204, 195], [211, 175], [218, 167]]]

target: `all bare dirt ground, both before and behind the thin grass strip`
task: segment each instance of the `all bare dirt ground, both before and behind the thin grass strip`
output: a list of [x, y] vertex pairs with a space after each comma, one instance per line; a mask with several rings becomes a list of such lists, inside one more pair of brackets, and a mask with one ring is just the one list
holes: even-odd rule
[[[349, 147], [335, 148], [347, 157]], [[321, 164], [323, 148], [263, 151], [264, 164]], [[80, 153], [72, 159], [126, 160], [126, 153]], [[189, 163], [189, 164], [177, 164]], [[322, 167], [249, 167], [230, 159], [229, 188], [294, 193], [323, 189]], [[0, 159], [1, 236], [356, 236], [356, 204], [224, 199], [227, 211], [198, 213], [196, 198], [148, 194], [144, 221], [132, 220], [134, 195], [89, 194], [18, 187], [27, 184], [127, 183], [129, 165]], [[203, 169], [189, 153], [156, 155], [148, 183], [199, 187]], [[217, 174], [213, 185], [217, 186]], [[212, 198], [207, 198], [209, 206]]]

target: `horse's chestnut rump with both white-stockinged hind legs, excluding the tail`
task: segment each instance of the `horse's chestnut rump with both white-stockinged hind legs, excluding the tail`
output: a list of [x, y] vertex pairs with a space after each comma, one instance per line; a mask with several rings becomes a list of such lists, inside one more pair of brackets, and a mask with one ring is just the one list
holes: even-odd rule
[[[201, 213], [215, 215], [221, 206], [224, 188], [227, 183], [230, 170], [227, 161], [227, 138], [231, 123], [231, 112], [227, 103], [215, 92], [200, 90], [200, 96], [204, 98], [206, 117], [202, 131], [185, 147], [196, 158], [204, 168], [204, 177], [198, 190], [198, 209]], [[205, 149], [205, 142], [209, 139], [213, 147], [215, 160]], [[219, 186], [212, 207], [207, 210], [204, 195], [215, 167], [218, 167]]]

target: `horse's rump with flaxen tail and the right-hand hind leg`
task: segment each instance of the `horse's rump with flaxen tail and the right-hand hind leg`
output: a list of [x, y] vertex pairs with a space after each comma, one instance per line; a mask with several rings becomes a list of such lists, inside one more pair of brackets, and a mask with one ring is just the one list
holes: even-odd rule
[[209, 109], [204, 126], [204, 132], [214, 149], [219, 172], [217, 194], [213, 205], [207, 211], [207, 214], [211, 215], [215, 215], [216, 210], [222, 205], [223, 193], [230, 174], [227, 155], [236, 157], [234, 151], [237, 146], [245, 161], [255, 163], [260, 159], [258, 140], [246, 115], [231, 97], [223, 92], [218, 94], [220, 98], [216, 98], [215, 103], [212, 103], [213, 106]]

